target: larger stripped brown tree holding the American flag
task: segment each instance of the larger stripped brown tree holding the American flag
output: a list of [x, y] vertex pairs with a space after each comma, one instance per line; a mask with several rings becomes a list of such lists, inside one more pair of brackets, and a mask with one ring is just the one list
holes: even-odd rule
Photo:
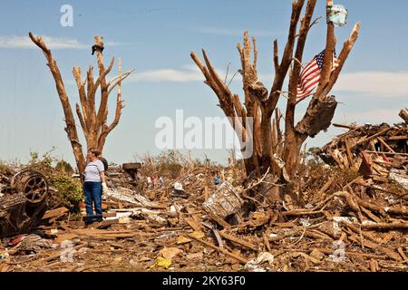
[[[306, 0], [297, 0], [292, 3], [292, 15], [287, 34], [282, 59], [279, 62], [277, 40], [274, 42], [273, 63], [275, 66], [275, 78], [270, 92], [265, 85], [258, 80], [257, 76], [257, 43], [252, 39], [252, 45], [248, 33], [244, 33], [243, 47], [238, 43], [238, 53], [241, 59], [243, 91], [245, 105], [240, 102], [238, 94], [231, 92], [225, 82], [221, 80], [215, 71], [209, 58], [203, 50], [205, 64], [201, 62], [196, 53], [191, 53], [191, 58], [198, 65], [206, 78], [206, 84], [217, 94], [222, 111], [231, 120], [238, 119], [238, 125], [234, 127], [238, 136], [241, 132], [246, 138], [253, 140], [254, 154], [245, 159], [247, 175], [253, 171], [257, 175], [273, 172], [287, 185], [293, 182], [300, 163], [299, 156], [302, 144], [308, 137], [315, 137], [320, 131], [326, 130], [335, 113], [335, 97], [328, 96], [337, 78], [342, 71], [348, 54], [351, 52], [357, 40], [360, 24], [355, 27], [349, 39], [345, 42], [343, 50], [339, 54], [339, 65], [333, 71], [333, 53], [335, 51], [335, 26], [327, 24], [327, 36], [325, 44], [325, 63], [316, 94], [311, 99], [306, 114], [301, 121], [295, 124], [297, 84], [302, 70], [303, 53], [307, 34], [310, 28], [317, 23], [312, 21], [316, 7], [316, 0], [308, 0], [306, 12], [301, 18]], [[327, 0], [327, 6], [333, 5], [332, 0]], [[300, 28], [298, 29], [300, 21]], [[252, 60], [251, 60], [252, 56]], [[287, 92], [287, 107], [285, 114], [285, 131], [280, 129], [282, 115], [277, 109], [277, 102], [283, 94], [285, 79], [289, 74]], [[274, 115], [275, 112], [275, 115]], [[253, 118], [253, 131], [240, 117]], [[293, 188], [287, 186], [287, 189]]]

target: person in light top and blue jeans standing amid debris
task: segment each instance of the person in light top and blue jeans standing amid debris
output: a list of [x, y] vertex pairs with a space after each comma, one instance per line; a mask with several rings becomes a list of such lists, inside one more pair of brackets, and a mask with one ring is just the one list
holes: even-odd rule
[[[102, 221], [102, 190], [106, 192], [108, 189], [105, 180], [105, 169], [102, 161], [99, 160], [99, 156], [100, 152], [98, 150], [88, 150], [88, 164], [83, 172], [87, 223]], [[92, 206], [95, 208], [96, 215], [93, 215]]]

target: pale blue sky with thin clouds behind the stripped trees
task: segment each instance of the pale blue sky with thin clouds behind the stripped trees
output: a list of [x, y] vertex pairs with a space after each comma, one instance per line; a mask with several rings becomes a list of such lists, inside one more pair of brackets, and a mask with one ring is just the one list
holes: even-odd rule
[[[63, 73], [72, 104], [78, 101], [73, 66], [96, 66], [90, 53], [93, 35], [104, 36], [105, 59], [121, 57], [123, 70], [136, 73], [122, 85], [126, 108], [105, 147], [108, 160], [123, 162], [136, 154], [157, 153], [154, 123], [173, 118], [176, 110], [200, 118], [223, 116], [215, 94], [202, 82], [189, 52], [205, 48], [212, 63], [225, 72], [238, 70], [236, 45], [248, 30], [257, 38], [258, 72], [271, 83], [272, 42], [285, 44], [291, 0], [267, 1], [2, 1], [0, 8], [0, 160], [27, 160], [30, 150], [73, 160], [63, 131], [63, 111], [44, 55], [27, 41], [29, 31], [44, 35]], [[62, 5], [73, 6], [73, 27], [60, 24]], [[398, 111], [408, 97], [408, 2], [343, 0], [348, 24], [336, 28], [337, 51], [355, 22], [361, 34], [333, 94], [340, 102], [336, 122], [399, 122]], [[315, 16], [324, 16], [317, 1]], [[67, 45], [67, 41], [72, 44]], [[325, 24], [311, 31], [305, 61], [325, 43]], [[68, 47], [69, 46], [69, 47]], [[113, 76], [114, 73], [112, 73]], [[241, 83], [231, 84], [241, 93]], [[284, 103], [281, 102], [284, 109]], [[298, 106], [303, 115], [307, 102]], [[114, 106], [112, 95], [111, 108]], [[112, 117], [112, 115], [111, 115]], [[341, 131], [330, 129], [309, 146], [321, 146]], [[193, 155], [224, 162], [226, 150], [197, 150]]]

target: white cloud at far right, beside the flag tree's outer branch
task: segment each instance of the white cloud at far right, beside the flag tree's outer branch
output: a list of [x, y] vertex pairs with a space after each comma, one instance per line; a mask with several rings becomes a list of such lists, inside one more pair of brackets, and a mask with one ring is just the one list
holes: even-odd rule
[[408, 73], [342, 73], [334, 90], [376, 97], [408, 96]]

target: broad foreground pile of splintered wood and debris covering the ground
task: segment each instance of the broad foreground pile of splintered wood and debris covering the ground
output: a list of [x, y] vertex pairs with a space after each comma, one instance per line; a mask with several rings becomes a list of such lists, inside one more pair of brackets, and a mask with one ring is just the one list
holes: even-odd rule
[[[47, 211], [36, 229], [51, 248], [38, 238], [42, 247], [17, 251], [4, 240], [0, 271], [408, 270], [408, 195], [392, 179], [321, 164], [302, 180], [305, 208], [259, 198], [270, 176], [238, 186], [243, 179], [237, 168], [198, 165], [143, 192], [118, 182], [100, 223]], [[73, 263], [62, 256], [67, 245]]]

